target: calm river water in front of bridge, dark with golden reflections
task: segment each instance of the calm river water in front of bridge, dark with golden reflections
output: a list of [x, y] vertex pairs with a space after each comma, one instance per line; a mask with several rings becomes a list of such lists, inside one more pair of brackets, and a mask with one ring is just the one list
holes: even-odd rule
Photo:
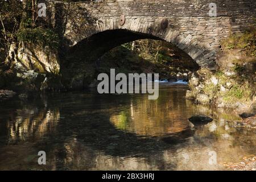
[[[230, 127], [237, 115], [192, 104], [186, 90], [160, 84], [156, 101], [95, 90], [1, 101], [0, 169], [216, 170], [255, 155], [255, 130]], [[193, 126], [195, 114], [214, 121]]]

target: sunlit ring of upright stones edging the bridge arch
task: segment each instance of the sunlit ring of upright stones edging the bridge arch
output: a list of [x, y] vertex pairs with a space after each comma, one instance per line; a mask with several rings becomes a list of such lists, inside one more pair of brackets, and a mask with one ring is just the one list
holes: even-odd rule
[[[121, 17], [99, 18], [90, 26], [81, 26], [77, 29], [77, 34], [69, 37], [71, 40], [71, 50], [82, 44], [83, 41], [92, 38], [94, 35], [105, 31], [127, 30], [140, 34], [142, 38], [165, 40], [174, 44], [181, 51], [189, 55], [201, 68], [216, 68], [216, 51], [209, 50], [199, 45], [194, 38], [195, 35], [184, 34], [172, 28], [171, 22], [164, 16], [148, 19], [134, 16], [125, 17], [125, 22], [121, 23]], [[123, 24], [123, 25], [121, 25]], [[68, 28], [72, 30], [72, 28]], [[71, 35], [71, 34], [70, 34]], [[68, 34], [66, 34], [68, 36]], [[79, 46], [78, 46], [79, 47]]]

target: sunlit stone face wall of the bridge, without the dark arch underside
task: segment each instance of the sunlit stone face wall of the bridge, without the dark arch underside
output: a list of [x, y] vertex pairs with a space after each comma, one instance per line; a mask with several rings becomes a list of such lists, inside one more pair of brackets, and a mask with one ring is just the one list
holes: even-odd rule
[[253, 23], [255, 2], [217, 1], [216, 17], [209, 16], [210, 3], [207, 0], [102, 0], [64, 4], [61, 7], [67, 20], [63, 22], [64, 37], [72, 47], [98, 32], [126, 29], [171, 42], [201, 67], [215, 69], [221, 40]]

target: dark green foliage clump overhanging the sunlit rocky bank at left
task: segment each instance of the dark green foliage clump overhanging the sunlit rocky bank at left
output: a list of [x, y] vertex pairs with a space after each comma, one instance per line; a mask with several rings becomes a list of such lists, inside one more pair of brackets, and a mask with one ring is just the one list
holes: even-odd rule
[[36, 43], [51, 49], [59, 47], [59, 36], [49, 28], [20, 28], [16, 36], [22, 42]]

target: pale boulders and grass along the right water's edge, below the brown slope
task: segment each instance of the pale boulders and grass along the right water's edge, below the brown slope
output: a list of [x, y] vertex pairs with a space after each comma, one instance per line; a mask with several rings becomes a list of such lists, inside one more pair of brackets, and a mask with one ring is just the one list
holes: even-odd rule
[[190, 90], [186, 97], [195, 100], [197, 104], [249, 110], [256, 101], [256, 80], [255, 73], [246, 71], [245, 74], [230, 70], [211, 72], [200, 69], [190, 75]]

